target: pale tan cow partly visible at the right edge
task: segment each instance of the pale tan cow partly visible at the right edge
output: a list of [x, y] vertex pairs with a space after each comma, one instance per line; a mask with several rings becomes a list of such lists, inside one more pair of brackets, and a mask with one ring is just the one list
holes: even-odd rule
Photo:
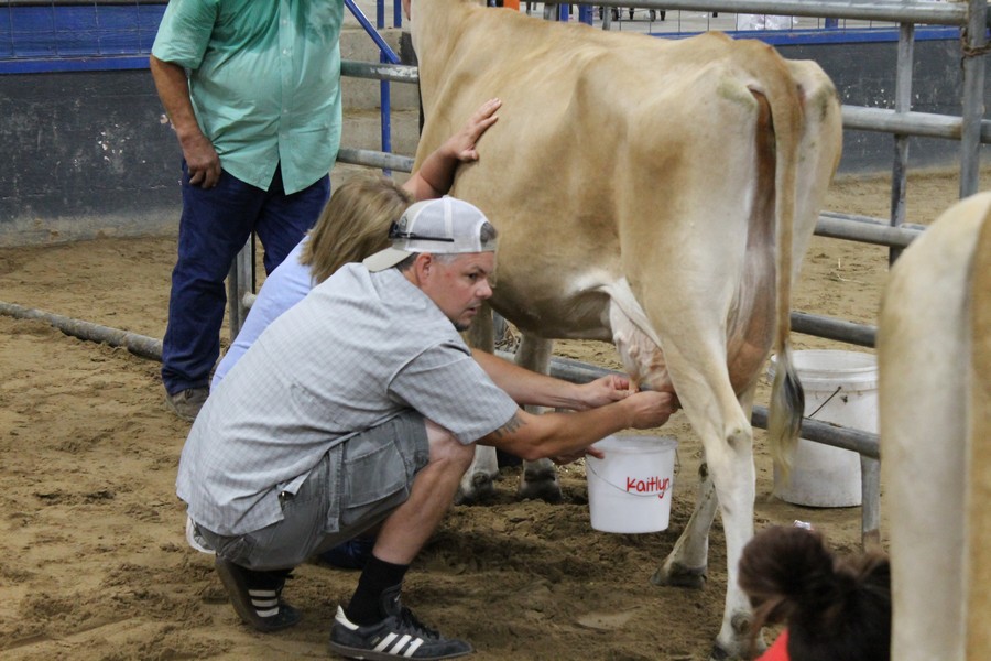
[[878, 333], [891, 658], [991, 659], [991, 193], [899, 258]]

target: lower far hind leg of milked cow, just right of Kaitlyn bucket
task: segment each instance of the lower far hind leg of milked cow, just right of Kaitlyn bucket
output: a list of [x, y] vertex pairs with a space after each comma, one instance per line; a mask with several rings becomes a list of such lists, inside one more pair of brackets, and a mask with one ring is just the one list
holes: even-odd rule
[[709, 529], [716, 519], [717, 505], [716, 487], [708, 466], [703, 462], [698, 467], [695, 511], [664, 564], [651, 576], [651, 583], [674, 587], [705, 587], [709, 566]]

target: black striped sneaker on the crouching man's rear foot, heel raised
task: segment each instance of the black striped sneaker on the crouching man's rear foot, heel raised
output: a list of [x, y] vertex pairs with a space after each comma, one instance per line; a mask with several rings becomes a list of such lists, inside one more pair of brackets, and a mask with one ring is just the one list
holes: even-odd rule
[[279, 631], [300, 624], [300, 611], [282, 600], [288, 570], [255, 572], [217, 557], [214, 561], [235, 613], [259, 631]]

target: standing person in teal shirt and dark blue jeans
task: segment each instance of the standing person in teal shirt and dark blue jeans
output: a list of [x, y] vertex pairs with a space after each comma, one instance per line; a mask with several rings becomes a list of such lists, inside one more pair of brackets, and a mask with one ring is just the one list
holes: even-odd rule
[[162, 17], [150, 66], [183, 151], [162, 381], [186, 420], [209, 392], [231, 261], [254, 231], [270, 273], [330, 195], [342, 17], [342, 0], [172, 0]]

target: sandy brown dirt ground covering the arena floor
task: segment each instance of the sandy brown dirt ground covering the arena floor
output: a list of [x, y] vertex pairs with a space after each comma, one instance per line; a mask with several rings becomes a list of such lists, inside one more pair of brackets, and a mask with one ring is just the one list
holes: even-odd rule
[[[987, 176], [985, 176], [987, 178]], [[987, 182], [985, 182], [987, 183]], [[886, 178], [840, 178], [827, 207], [886, 217]], [[957, 197], [955, 173], [913, 176], [908, 221]], [[0, 250], [0, 300], [160, 338], [175, 238], [106, 238]], [[796, 310], [873, 323], [886, 249], [816, 238]], [[796, 335], [797, 348], [849, 348]], [[862, 349], [867, 350], [867, 349]], [[558, 354], [617, 367], [611, 346]], [[176, 464], [188, 424], [166, 411], [159, 365], [0, 316], [0, 657], [44, 660], [320, 659], [336, 605], [357, 574], [306, 564], [285, 596], [304, 614], [262, 635], [237, 619], [211, 559], [183, 537]], [[759, 403], [766, 404], [766, 386]], [[722, 531], [708, 585], [656, 587], [651, 574], [690, 513], [699, 446], [682, 414], [671, 527], [596, 532], [584, 466], [563, 469], [560, 505], [520, 501], [504, 469], [493, 501], [454, 507], [409, 574], [405, 600], [444, 632], [497, 659], [697, 660], [708, 655], [726, 587]], [[841, 551], [860, 508], [814, 509], [771, 496], [756, 431], [756, 524], [812, 522]]]

